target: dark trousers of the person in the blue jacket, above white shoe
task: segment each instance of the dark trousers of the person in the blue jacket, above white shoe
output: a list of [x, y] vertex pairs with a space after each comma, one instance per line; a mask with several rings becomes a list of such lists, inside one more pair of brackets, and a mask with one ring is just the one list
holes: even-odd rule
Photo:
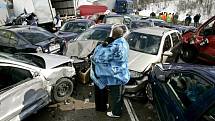
[[111, 96], [111, 107], [113, 115], [120, 116], [122, 114], [123, 106], [123, 85], [109, 86]]

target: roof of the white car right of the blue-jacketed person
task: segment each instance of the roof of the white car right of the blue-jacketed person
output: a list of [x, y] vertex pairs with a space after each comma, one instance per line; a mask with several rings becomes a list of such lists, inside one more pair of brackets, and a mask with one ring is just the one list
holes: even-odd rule
[[144, 28], [135, 29], [133, 32], [163, 36], [164, 33], [169, 31], [173, 31], [173, 30], [165, 27], [144, 27]]

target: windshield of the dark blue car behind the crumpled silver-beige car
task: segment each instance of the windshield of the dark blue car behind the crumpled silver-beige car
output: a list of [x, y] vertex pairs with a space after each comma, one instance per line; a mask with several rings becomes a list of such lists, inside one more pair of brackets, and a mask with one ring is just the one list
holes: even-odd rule
[[60, 28], [60, 31], [82, 33], [86, 29], [87, 29], [86, 22], [68, 22]]

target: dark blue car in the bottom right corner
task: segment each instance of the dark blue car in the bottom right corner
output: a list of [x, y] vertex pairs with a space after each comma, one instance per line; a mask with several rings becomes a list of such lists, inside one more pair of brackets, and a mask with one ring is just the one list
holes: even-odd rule
[[160, 121], [215, 120], [215, 67], [157, 64], [149, 80]]

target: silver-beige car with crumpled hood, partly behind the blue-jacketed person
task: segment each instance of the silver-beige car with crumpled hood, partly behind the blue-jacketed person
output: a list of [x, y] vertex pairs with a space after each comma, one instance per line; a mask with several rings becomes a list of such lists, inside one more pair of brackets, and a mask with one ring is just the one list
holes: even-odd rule
[[112, 30], [115, 27], [121, 27], [124, 30], [124, 36], [129, 33], [126, 25], [121, 24], [98, 24], [83, 32], [74, 42], [68, 44], [66, 56], [74, 60], [74, 67], [77, 72], [78, 80], [82, 83], [89, 82], [90, 55], [94, 48], [112, 36]]

